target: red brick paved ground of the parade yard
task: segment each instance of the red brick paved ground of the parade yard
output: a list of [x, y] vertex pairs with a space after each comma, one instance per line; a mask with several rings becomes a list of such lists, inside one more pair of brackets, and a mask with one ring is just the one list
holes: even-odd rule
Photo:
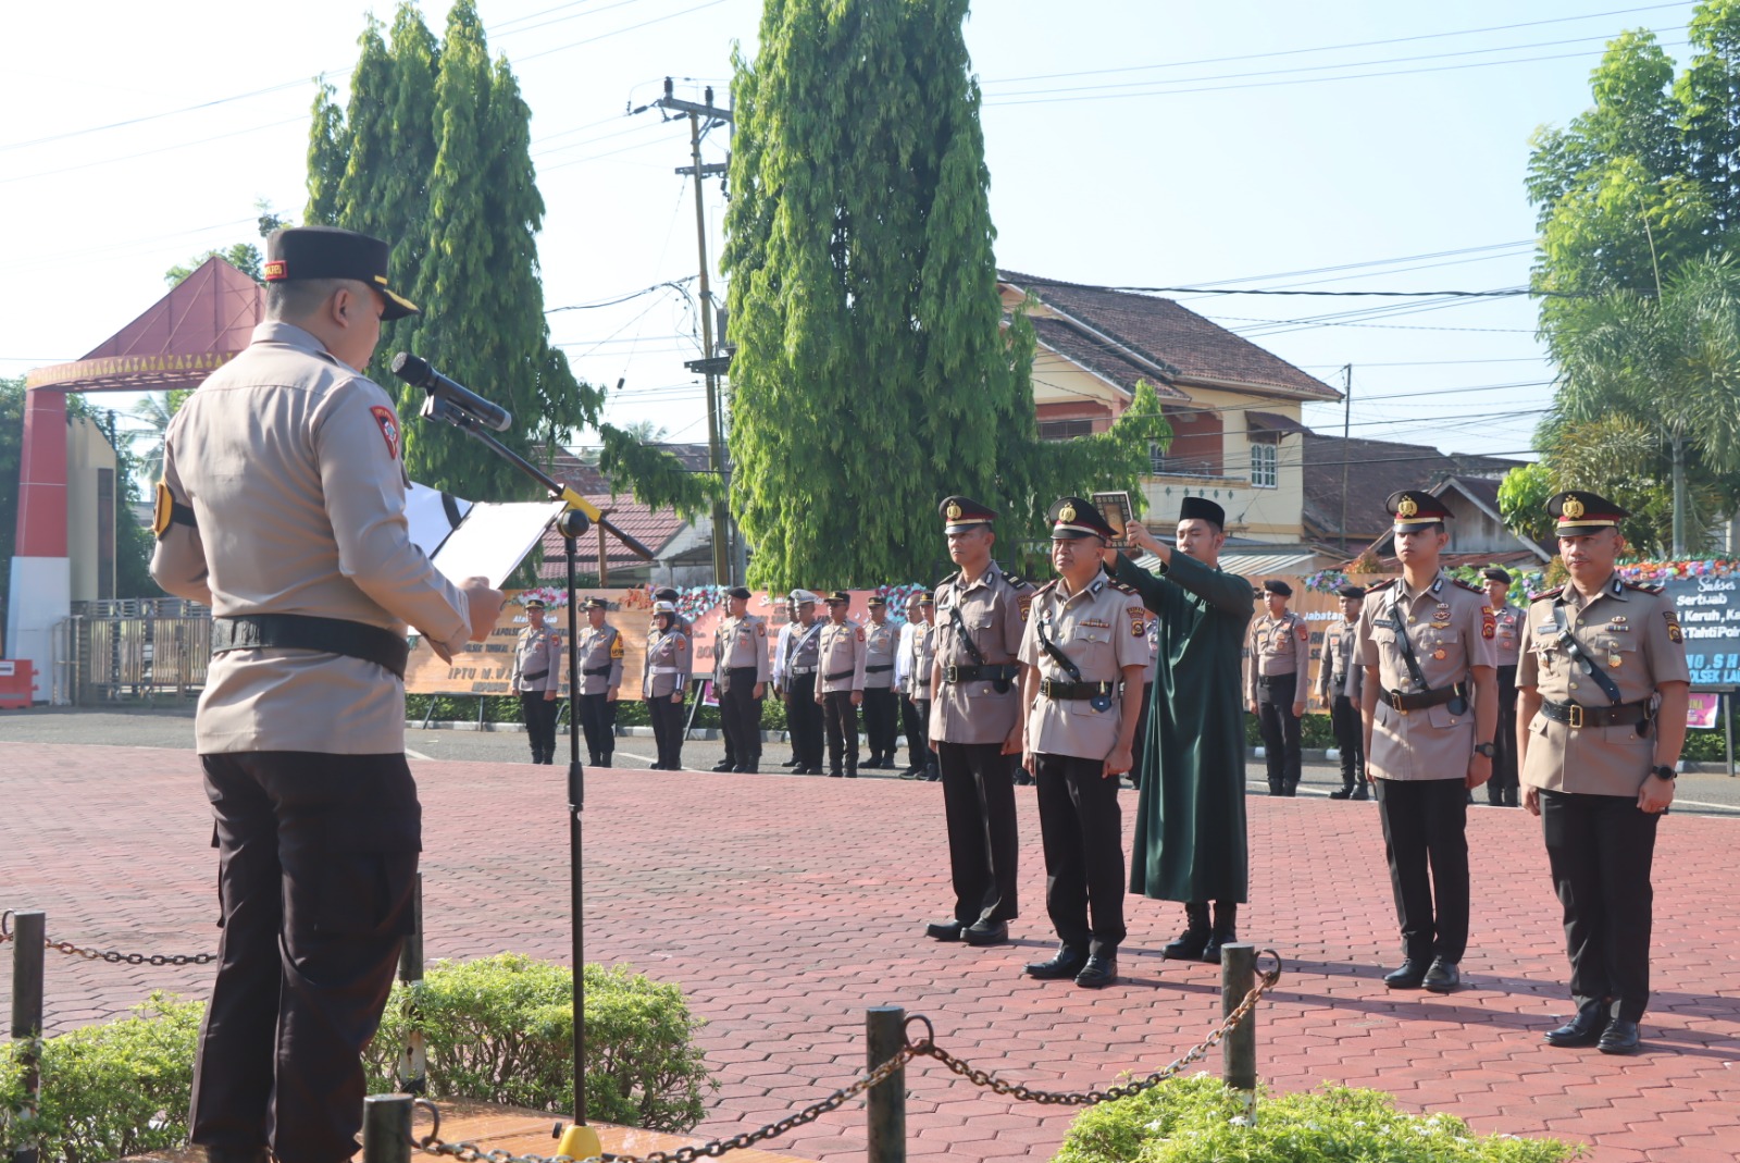
[[[560, 768], [419, 763], [430, 956], [567, 949]], [[1051, 945], [1032, 794], [1021, 790], [1023, 907], [1014, 947], [919, 935], [943, 911], [941, 796], [926, 783], [663, 771], [588, 780], [588, 956], [689, 991], [720, 1090], [701, 1133], [813, 1100], [863, 1066], [870, 1005], [936, 1022], [943, 1045], [1039, 1086], [1150, 1071], [1206, 1031], [1218, 970], [1162, 963], [1178, 909], [1133, 900], [1124, 982], [1100, 994], [1028, 982]], [[1126, 803], [1129, 803], [1126, 799]], [[190, 752], [0, 743], [0, 907], [42, 907], [50, 935], [103, 947], [212, 947], [211, 824]], [[1656, 860], [1656, 996], [1636, 1059], [1540, 1041], [1568, 1005], [1557, 905], [1533, 822], [1472, 813], [1470, 987], [1389, 994], [1394, 918], [1371, 804], [1251, 806], [1242, 933], [1288, 977], [1262, 1012], [1263, 1076], [1380, 1086], [1481, 1130], [1552, 1132], [1601, 1163], [1733, 1160], [1740, 1142], [1740, 825], [1669, 818]], [[1128, 824], [1128, 822], [1126, 822]], [[204, 994], [209, 970], [87, 965], [50, 954], [49, 1020], [68, 1029], [151, 987]], [[9, 998], [0, 968], [0, 999]], [[914, 1156], [1047, 1158], [1070, 1114], [1013, 1106], [936, 1064], [908, 1071]], [[861, 1158], [847, 1107], [781, 1144]]]

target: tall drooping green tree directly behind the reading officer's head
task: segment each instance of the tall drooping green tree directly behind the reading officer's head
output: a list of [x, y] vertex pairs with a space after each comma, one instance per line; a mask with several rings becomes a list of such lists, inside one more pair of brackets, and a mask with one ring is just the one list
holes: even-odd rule
[[[698, 510], [713, 482], [600, 423], [604, 392], [576, 381], [550, 343], [531, 110], [506, 59], [491, 63], [475, 2], [454, 3], [442, 42], [400, 3], [392, 44], [371, 17], [360, 45], [348, 106], [331, 87], [315, 97], [306, 219], [392, 240], [395, 277], [425, 312], [392, 324], [369, 374], [395, 383], [392, 357], [414, 350], [513, 413], [499, 439], [519, 454], [548, 456], [595, 427], [618, 487], [652, 507]], [[411, 416], [423, 393], [405, 387], [398, 404]], [[512, 465], [445, 425], [407, 425], [405, 467], [466, 496], [527, 493]]]

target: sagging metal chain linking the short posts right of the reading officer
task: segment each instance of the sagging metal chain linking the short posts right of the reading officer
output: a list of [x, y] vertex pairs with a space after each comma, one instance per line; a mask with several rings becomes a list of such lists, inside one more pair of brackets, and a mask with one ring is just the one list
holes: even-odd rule
[[[1232, 1010], [1232, 1013], [1228, 1013], [1220, 1022], [1220, 1025], [1216, 1025], [1208, 1032], [1208, 1038], [1204, 1038], [1195, 1046], [1187, 1050], [1181, 1057], [1169, 1062], [1166, 1067], [1154, 1071], [1147, 1078], [1138, 1078], [1134, 1081], [1122, 1083], [1119, 1086], [1107, 1086], [1105, 1090], [1068, 1092], [1068, 1090], [1034, 1090], [1020, 1083], [1004, 1081], [997, 1078], [994, 1072], [981, 1071], [973, 1064], [957, 1059], [955, 1055], [938, 1046], [936, 1031], [931, 1025], [931, 1020], [920, 1013], [915, 1013], [907, 1018], [907, 1045], [901, 1046], [898, 1052], [894, 1052], [891, 1059], [877, 1066], [868, 1074], [863, 1074], [861, 1078], [858, 1078], [858, 1081], [851, 1083], [849, 1086], [842, 1086], [826, 1099], [814, 1102], [800, 1111], [793, 1111], [778, 1123], [767, 1123], [766, 1126], [743, 1132], [741, 1135], [731, 1135], [729, 1139], [713, 1139], [712, 1142], [703, 1142], [693, 1147], [677, 1147], [675, 1151], [651, 1151], [647, 1154], [606, 1153], [595, 1158], [602, 1160], [604, 1163], [694, 1163], [696, 1160], [701, 1158], [719, 1158], [727, 1151], [741, 1151], [745, 1147], [753, 1147], [755, 1144], [764, 1142], [767, 1139], [778, 1139], [780, 1135], [785, 1135], [786, 1132], [797, 1126], [802, 1126], [806, 1123], [814, 1123], [828, 1111], [839, 1109], [842, 1104], [846, 1104], [846, 1100], [856, 1099], [872, 1086], [880, 1085], [894, 1071], [901, 1069], [914, 1059], [936, 1059], [950, 1071], [973, 1083], [974, 1086], [983, 1086], [994, 1093], [1007, 1095], [1021, 1102], [1037, 1102], [1042, 1106], [1088, 1107], [1100, 1102], [1110, 1102], [1114, 1099], [1129, 1099], [1131, 1095], [1140, 1095], [1145, 1090], [1154, 1090], [1168, 1078], [1173, 1078], [1178, 1072], [1181, 1072], [1192, 1062], [1199, 1062], [1201, 1059], [1204, 1059], [1215, 1046], [1221, 1043], [1221, 1039], [1227, 1038], [1227, 1034], [1237, 1029], [1239, 1022], [1242, 1022], [1251, 1013], [1251, 1010], [1256, 1008], [1256, 1003], [1263, 999], [1263, 994], [1268, 992], [1274, 987], [1274, 984], [1281, 980], [1281, 956], [1274, 949], [1263, 949], [1258, 956], [1272, 958], [1275, 963], [1274, 968], [1258, 971], [1256, 985], [1251, 987], [1251, 992], [1244, 994], [1244, 999]], [[917, 1041], [914, 1041], [912, 1038], [914, 1024], [920, 1024], [924, 1027], [924, 1036], [919, 1038]], [[454, 1160], [459, 1160], [459, 1163], [581, 1163], [572, 1160], [572, 1156], [566, 1154], [555, 1154], [555, 1156], [513, 1154], [512, 1151], [491, 1151], [468, 1140], [445, 1142], [440, 1137], [440, 1109], [428, 1099], [418, 1099], [416, 1106], [430, 1113], [430, 1116], [433, 1118], [433, 1126], [430, 1128], [430, 1133], [421, 1137], [412, 1137], [411, 1146], [428, 1154], [451, 1156]]]

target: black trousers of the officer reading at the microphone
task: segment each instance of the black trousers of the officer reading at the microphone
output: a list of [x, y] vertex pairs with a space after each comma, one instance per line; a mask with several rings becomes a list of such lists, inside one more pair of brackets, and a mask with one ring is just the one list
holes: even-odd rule
[[191, 1140], [336, 1163], [362, 1126], [360, 1053], [412, 924], [421, 843], [404, 754], [200, 756], [223, 938]]

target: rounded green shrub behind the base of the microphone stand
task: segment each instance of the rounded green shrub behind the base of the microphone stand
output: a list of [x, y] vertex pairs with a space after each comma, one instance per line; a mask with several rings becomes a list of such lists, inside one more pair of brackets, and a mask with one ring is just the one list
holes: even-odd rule
[[[430, 1097], [567, 1111], [574, 1095], [572, 973], [499, 954], [437, 961], [393, 987], [369, 1048], [369, 1088], [392, 1090], [412, 1025], [428, 1050]], [[407, 1005], [409, 1003], [409, 1005]], [[623, 966], [586, 966], [586, 1106], [606, 1123], [684, 1132], [706, 1116], [706, 1072], [682, 991]]]

